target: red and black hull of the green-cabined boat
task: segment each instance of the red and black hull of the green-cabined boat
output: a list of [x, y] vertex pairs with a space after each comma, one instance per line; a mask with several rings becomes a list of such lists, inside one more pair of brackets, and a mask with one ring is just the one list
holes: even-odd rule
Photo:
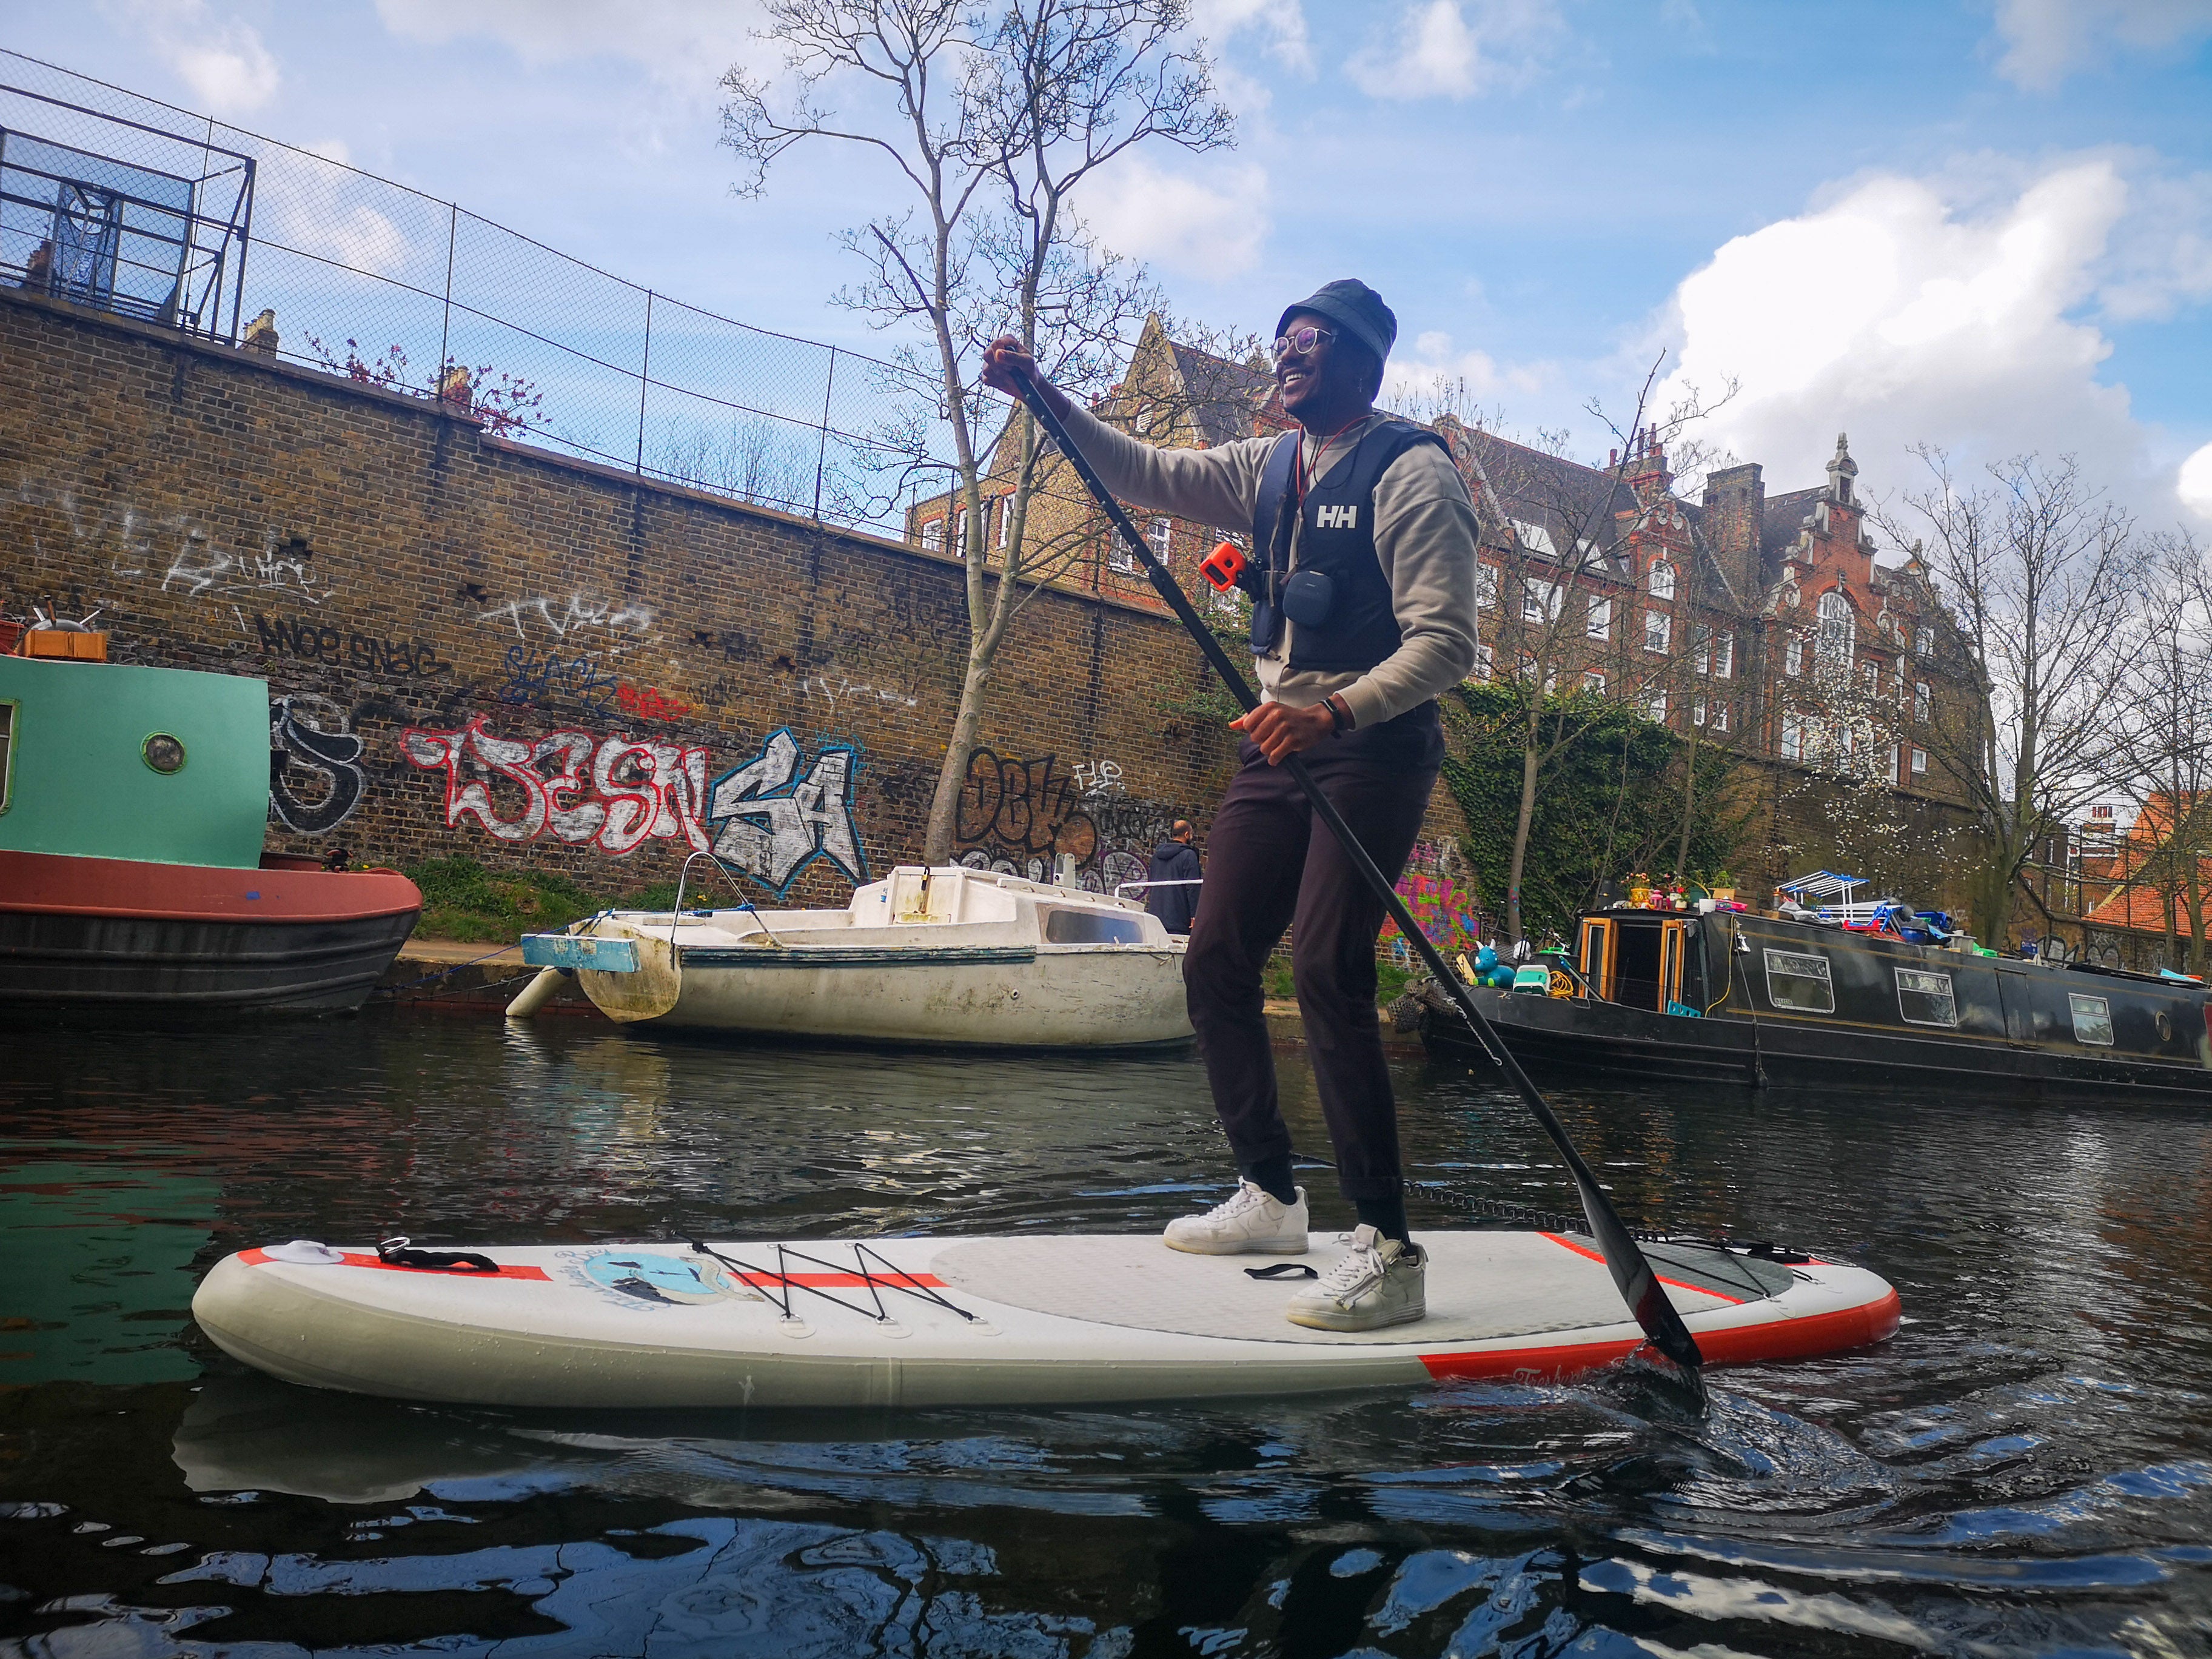
[[420, 905], [394, 872], [0, 852], [0, 1009], [15, 1022], [358, 1009]]

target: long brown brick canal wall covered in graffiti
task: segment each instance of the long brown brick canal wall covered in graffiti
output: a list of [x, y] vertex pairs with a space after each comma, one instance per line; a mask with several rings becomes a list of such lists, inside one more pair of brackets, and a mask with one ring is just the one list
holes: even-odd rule
[[[0, 615], [97, 608], [119, 661], [268, 679], [270, 845], [619, 894], [734, 825], [792, 902], [918, 856], [967, 644], [949, 560], [13, 290], [0, 376]], [[962, 847], [1113, 885], [1166, 818], [1203, 830], [1230, 748], [1177, 712], [1199, 672], [1172, 622], [1033, 597]]]

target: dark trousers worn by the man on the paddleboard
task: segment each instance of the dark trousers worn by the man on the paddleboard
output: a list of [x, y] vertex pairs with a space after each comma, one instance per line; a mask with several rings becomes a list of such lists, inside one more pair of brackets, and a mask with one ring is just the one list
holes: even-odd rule
[[[1398, 880], [1444, 763], [1436, 703], [1316, 743], [1303, 759], [1383, 874]], [[1199, 1057], [1241, 1166], [1290, 1152], [1261, 1015], [1261, 969], [1290, 927], [1292, 982], [1338, 1183], [1347, 1199], [1400, 1190], [1398, 1104], [1376, 1018], [1383, 914], [1290, 772], [1245, 743], [1206, 838], [1206, 887], [1183, 958]]]

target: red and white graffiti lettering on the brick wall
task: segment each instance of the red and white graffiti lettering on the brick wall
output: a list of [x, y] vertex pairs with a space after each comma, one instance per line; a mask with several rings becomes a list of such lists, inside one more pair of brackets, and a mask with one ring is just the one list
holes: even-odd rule
[[484, 717], [449, 730], [409, 726], [400, 754], [445, 772], [445, 823], [476, 818], [504, 843], [553, 834], [622, 858], [648, 841], [708, 849], [708, 752], [684, 743], [564, 728], [531, 741], [493, 737]]

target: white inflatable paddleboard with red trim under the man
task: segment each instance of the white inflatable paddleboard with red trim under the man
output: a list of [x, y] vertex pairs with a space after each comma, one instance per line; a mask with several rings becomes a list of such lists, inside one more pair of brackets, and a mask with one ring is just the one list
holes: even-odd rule
[[[1316, 1234], [1316, 1239], [1321, 1239]], [[201, 1329], [288, 1383], [515, 1407], [1091, 1405], [1562, 1378], [1641, 1332], [1588, 1239], [1422, 1232], [1429, 1316], [1378, 1332], [1283, 1318], [1305, 1256], [1190, 1256], [1159, 1234], [807, 1243], [491, 1245], [500, 1272], [374, 1250], [226, 1256]], [[1876, 1274], [1710, 1245], [1646, 1245], [1712, 1365], [1878, 1343]]]

